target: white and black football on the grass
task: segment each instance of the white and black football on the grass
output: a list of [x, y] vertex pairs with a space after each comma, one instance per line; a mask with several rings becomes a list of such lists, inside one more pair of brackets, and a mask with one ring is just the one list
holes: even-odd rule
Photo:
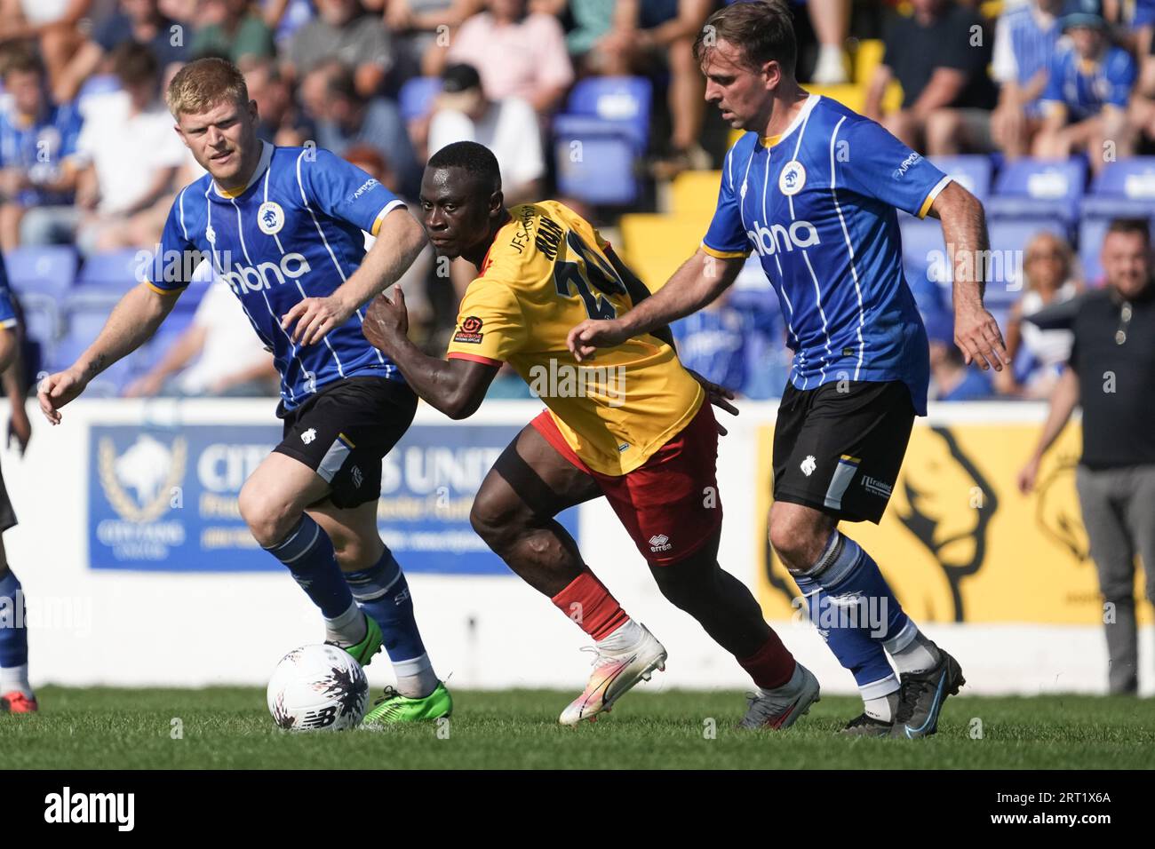
[[336, 646], [301, 646], [273, 671], [269, 713], [289, 731], [344, 731], [365, 716], [365, 670]]

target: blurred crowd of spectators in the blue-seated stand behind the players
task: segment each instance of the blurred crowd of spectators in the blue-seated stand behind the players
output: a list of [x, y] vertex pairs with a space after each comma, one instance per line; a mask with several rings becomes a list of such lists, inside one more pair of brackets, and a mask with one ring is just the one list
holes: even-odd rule
[[[182, 62], [233, 60], [258, 103], [262, 137], [330, 149], [410, 200], [426, 158], [471, 139], [497, 155], [507, 203], [559, 198], [613, 234], [623, 213], [665, 211], [655, 187], [716, 167], [728, 147], [691, 51], [715, 6], [5, 0], [0, 247], [36, 345], [30, 377], [69, 363], [94, 337], [113, 295], [132, 283], [125, 258], [158, 243], [174, 193], [201, 173], [162, 97]], [[934, 397], [1045, 397], [1070, 336], [1022, 316], [1100, 283], [1106, 213], [1120, 204], [1155, 211], [1155, 166], [1142, 157], [1155, 150], [1155, 1], [810, 0], [795, 3], [795, 17], [804, 84], [855, 99], [963, 181], [988, 203], [994, 254], [1018, 258], [988, 286], [1015, 363], [991, 380], [953, 344], [949, 289], [932, 259], [941, 247], [937, 224], [929, 231], [903, 219]], [[867, 67], [857, 57], [871, 42], [882, 51]], [[646, 83], [640, 113], [623, 114], [620, 98], [609, 98], [591, 116], [601, 127], [559, 122], [580, 111], [581, 82], [631, 76]], [[899, 100], [887, 96], [894, 82]], [[628, 166], [642, 177], [625, 202], [606, 202], [604, 185], [567, 171], [566, 150], [571, 139], [601, 139], [605, 125], [638, 114], [648, 118]], [[633, 173], [608, 171], [608, 161], [591, 157], [589, 169], [603, 184], [633, 183]], [[430, 350], [444, 350], [469, 282], [460, 261], [449, 276], [452, 286], [427, 251], [405, 281], [415, 330]], [[209, 298], [195, 310], [208, 288], [182, 298], [170, 329], [104, 375], [98, 392], [274, 394], [271, 366], [249, 350], [256, 343], [247, 328], [223, 326], [218, 316], [231, 311], [211, 308]], [[739, 288], [675, 330], [691, 367], [748, 397], [780, 394], [790, 355], [773, 291]], [[237, 350], [243, 356], [230, 353]], [[177, 379], [189, 364], [192, 377]], [[228, 364], [233, 374], [206, 378]], [[522, 392], [515, 380], [495, 392], [506, 389]]]

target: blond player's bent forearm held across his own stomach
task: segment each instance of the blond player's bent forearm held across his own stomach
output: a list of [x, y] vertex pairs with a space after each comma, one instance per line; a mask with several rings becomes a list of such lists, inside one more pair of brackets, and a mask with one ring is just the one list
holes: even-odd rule
[[[362, 304], [396, 283], [425, 247], [425, 231], [403, 207], [385, 216], [360, 267], [327, 298], [305, 298], [281, 318], [297, 344], [311, 345], [349, 320]], [[293, 326], [296, 322], [296, 326]]]

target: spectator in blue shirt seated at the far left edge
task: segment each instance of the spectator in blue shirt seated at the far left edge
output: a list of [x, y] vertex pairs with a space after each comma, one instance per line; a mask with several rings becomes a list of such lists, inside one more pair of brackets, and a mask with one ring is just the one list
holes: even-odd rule
[[0, 247], [65, 241], [76, 228], [80, 113], [49, 99], [44, 64], [30, 50], [5, 57], [3, 89], [12, 102], [0, 112]]

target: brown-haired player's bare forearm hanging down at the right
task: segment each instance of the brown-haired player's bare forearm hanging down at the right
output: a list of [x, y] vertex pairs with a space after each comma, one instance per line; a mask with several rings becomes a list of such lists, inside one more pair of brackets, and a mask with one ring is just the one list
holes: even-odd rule
[[967, 365], [1003, 371], [1006, 345], [994, 316], [983, 306], [986, 258], [986, 216], [983, 204], [957, 183], [948, 183], [931, 204], [930, 214], [942, 222], [947, 254], [954, 258], [954, 343]]

